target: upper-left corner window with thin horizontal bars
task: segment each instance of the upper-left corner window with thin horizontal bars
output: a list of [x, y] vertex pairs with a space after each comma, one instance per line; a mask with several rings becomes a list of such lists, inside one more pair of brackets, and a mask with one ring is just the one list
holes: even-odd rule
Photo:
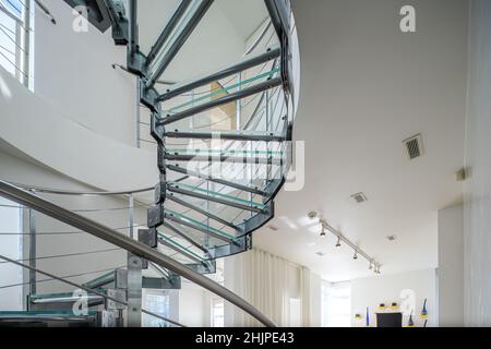
[[0, 0], [0, 65], [26, 86], [33, 76], [29, 51], [32, 0]]

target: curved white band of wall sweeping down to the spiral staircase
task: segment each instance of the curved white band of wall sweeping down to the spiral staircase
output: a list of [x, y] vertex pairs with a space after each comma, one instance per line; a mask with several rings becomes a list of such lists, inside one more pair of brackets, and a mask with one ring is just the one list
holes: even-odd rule
[[0, 139], [77, 181], [103, 190], [152, 186], [155, 153], [95, 133], [28, 92], [0, 69]]

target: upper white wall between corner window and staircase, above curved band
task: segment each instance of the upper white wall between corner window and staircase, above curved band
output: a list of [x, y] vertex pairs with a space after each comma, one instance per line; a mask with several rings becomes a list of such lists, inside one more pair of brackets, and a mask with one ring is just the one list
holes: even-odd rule
[[135, 80], [111, 68], [125, 64], [125, 48], [115, 46], [110, 31], [74, 32], [64, 1], [45, 3], [57, 25], [36, 11], [35, 93], [86, 128], [134, 145]]

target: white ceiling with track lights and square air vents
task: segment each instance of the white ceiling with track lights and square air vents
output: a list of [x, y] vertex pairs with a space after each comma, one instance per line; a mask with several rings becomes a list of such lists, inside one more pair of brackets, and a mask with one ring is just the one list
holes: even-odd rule
[[[333, 236], [309, 230], [307, 213], [315, 209], [375, 256], [382, 274], [436, 267], [438, 210], [462, 200], [467, 1], [411, 1], [416, 34], [399, 31], [407, 1], [292, 2], [302, 62], [295, 137], [306, 141], [306, 186], [279, 194], [272, 221], [279, 229], [263, 228], [254, 245], [331, 281], [372, 275], [347, 246], [335, 249]], [[409, 160], [402, 141], [417, 133], [424, 156]], [[368, 202], [350, 198], [358, 192]]]

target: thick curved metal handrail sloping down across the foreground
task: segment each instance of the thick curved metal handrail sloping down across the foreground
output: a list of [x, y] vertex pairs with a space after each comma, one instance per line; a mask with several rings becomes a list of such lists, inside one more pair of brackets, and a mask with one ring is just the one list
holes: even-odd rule
[[261, 313], [251, 303], [247, 302], [241, 297], [237, 296], [232, 291], [226, 289], [221, 285], [211, 280], [209, 278], [197, 274], [181, 263], [172, 260], [171, 257], [161, 254], [155, 249], [144, 245], [127, 236], [123, 236], [116, 230], [112, 230], [101, 224], [98, 224], [92, 219], [85, 218], [81, 215], [74, 214], [63, 207], [55, 205], [53, 203], [44, 200], [37, 195], [34, 195], [25, 190], [16, 188], [4, 181], [0, 181], [0, 196], [16, 202], [21, 205], [31, 207], [41, 214], [45, 214], [51, 218], [68, 224], [74, 228], [86, 231], [87, 233], [95, 236], [101, 240], [105, 240], [111, 244], [115, 244], [123, 250], [127, 250], [135, 255], [146, 258], [155, 264], [172, 270], [178, 275], [189, 279], [190, 281], [207, 289], [208, 291], [224, 298], [230, 303], [246, 311], [262, 324], [275, 327], [276, 325]]

